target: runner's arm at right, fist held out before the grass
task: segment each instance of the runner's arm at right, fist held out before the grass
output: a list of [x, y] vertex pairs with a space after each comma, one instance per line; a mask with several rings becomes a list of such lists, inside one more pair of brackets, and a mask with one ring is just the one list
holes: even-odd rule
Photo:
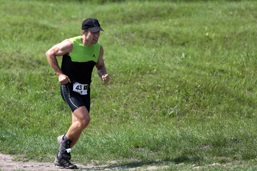
[[110, 77], [106, 73], [106, 67], [105, 67], [104, 61], [103, 61], [103, 46], [102, 45], [100, 47], [99, 58], [96, 63], [96, 68], [97, 68], [98, 75], [102, 78], [102, 80], [104, 82], [109, 82]]

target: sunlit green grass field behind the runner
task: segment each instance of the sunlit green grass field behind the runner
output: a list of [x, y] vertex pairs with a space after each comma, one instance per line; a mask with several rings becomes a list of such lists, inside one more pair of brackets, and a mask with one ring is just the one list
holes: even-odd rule
[[257, 1], [2, 0], [0, 11], [0, 153], [53, 162], [71, 112], [45, 53], [93, 17], [111, 79], [94, 69], [71, 162], [257, 169]]

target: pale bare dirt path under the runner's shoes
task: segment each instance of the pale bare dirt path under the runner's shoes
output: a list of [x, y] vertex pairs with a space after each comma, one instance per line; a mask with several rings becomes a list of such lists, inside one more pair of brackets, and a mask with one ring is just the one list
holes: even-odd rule
[[[47, 170], [55, 170], [68, 171], [69, 169], [64, 169], [63, 167], [55, 166], [53, 163], [42, 163], [42, 162], [22, 162], [22, 161], [12, 161], [13, 156], [7, 154], [0, 154], [0, 169], [13, 171], [13, 170], [26, 170], [26, 171], [47, 171]], [[108, 166], [108, 165], [86, 165], [83, 166], [79, 163], [74, 163], [78, 166], [79, 171], [84, 170], [112, 170], [112, 169], [138, 169], [139, 167], [128, 167], [128, 166]], [[158, 169], [160, 167], [157, 166], [149, 166], [147, 170]]]

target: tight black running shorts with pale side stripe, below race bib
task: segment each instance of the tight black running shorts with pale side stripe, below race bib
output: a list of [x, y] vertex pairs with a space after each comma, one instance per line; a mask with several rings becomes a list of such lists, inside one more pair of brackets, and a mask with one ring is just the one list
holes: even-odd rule
[[73, 91], [73, 83], [68, 83], [60, 86], [62, 99], [68, 104], [71, 111], [78, 109], [78, 107], [85, 106], [89, 113], [90, 110], [90, 88], [87, 88], [87, 94], [81, 95]]

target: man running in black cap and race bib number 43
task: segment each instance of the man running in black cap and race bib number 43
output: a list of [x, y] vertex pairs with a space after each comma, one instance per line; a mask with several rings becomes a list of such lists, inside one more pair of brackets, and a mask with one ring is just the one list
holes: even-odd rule
[[[72, 114], [70, 128], [57, 138], [59, 154], [54, 161], [56, 166], [66, 169], [77, 168], [69, 161], [71, 148], [90, 122], [90, 83], [94, 66], [100, 78], [109, 82], [103, 61], [103, 46], [98, 42], [100, 30], [103, 31], [98, 20], [88, 18], [82, 23], [82, 36], [65, 39], [46, 52], [46, 58], [61, 83], [61, 96]], [[62, 56], [61, 68], [56, 56]]]

